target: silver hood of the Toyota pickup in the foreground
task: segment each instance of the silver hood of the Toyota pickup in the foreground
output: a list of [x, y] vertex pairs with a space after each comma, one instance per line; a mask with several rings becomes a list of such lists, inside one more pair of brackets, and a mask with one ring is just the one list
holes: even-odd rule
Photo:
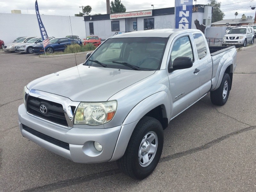
[[79, 65], [36, 79], [28, 84], [28, 89], [61, 95], [72, 101], [107, 101], [122, 89], [154, 73]]

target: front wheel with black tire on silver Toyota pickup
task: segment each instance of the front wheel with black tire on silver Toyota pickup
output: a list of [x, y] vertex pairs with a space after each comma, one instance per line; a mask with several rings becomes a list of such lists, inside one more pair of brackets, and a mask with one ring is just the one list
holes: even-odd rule
[[[152, 140], [154, 136], [156, 137]], [[147, 143], [149, 148], [145, 148], [145, 145], [142, 144], [143, 142]], [[142, 180], [148, 177], [156, 168], [162, 154], [163, 145], [164, 131], [161, 123], [153, 117], [145, 116], [141, 118], [139, 123], [136, 125], [124, 156], [117, 160], [117, 165], [128, 176], [133, 179]], [[142, 148], [147, 150], [141, 152]], [[144, 158], [147, 156], [148, 164], [146, 164], [145, 161], [145, 165], [142, 165], [144, 163], [144, 158], [141, 158], [140, 160], [140, 156], [144, 156]]]

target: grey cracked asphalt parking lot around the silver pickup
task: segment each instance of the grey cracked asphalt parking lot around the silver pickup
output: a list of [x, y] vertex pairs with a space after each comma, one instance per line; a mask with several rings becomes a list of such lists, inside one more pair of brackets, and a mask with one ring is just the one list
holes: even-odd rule
[[228, 102], [210, 94], [164, 130], [155, 171], [132, 180], [115, 162], [77, 164], [20, 134], [17, 110], [30, 81], [84, 62], [85, 55], [42, 58], [0, 52], [0, 191], [255, 191], [256, 47], [237, 52]]

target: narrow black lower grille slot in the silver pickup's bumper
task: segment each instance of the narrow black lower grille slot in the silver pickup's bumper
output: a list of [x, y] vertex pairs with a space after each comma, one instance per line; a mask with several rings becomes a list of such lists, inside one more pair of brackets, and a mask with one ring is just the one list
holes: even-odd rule
[[50, 137], [48, 135], [45, 135], [45, 134], [40, 133], [40, 132], [38, 132], [38, 131], [36, 131], [34, 129], [31, 129], [31, 128], [27, 127], [26, 125], [23, 125], [23, 124], [22, 124], [22, 128], [25, 131], [31, 133], [32, 135], [35, 135], [36, 137], [39, 137], [40, 139], [43, 139], [45, 141], [48, 141], [48, 142], [50, 142], [50, 143], [52, 143], [54, 145], [57, 145], [57, 146], [61, 147], [61, 148], [69, 150], [69, 144], [66, 143], [66, 142], [54, 139], [54, 138], [52, 138], [52, 137]]

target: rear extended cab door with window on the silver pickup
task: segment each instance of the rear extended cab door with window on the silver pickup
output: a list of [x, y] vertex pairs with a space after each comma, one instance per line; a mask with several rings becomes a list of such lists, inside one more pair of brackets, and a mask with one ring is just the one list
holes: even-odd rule
[[193, 38], [196, 45], [195, 57], [200, 66], [198, 75], [200, 76], [199, 98], [201, 98], [210, 91], [212, 86], [212, 56], [202, 33], [193, 33]]

